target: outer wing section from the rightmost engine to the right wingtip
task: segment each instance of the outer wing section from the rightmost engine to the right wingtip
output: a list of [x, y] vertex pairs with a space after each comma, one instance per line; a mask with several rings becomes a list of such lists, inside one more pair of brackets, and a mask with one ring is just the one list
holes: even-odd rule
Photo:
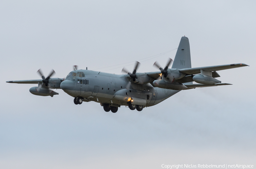
[[218, 71], [218, 70], [233, 69], [233, 68], [244, 67], [244, 66], [248, 66], [248, 65], [244, 63], [236, 63], [236, 64], [230, 64], [230, 65], [187, 68], [187, 69], [180, 69], [179, 71], [184, 74], [199, 74], [201, 73], [201, 69], [206, 71]]

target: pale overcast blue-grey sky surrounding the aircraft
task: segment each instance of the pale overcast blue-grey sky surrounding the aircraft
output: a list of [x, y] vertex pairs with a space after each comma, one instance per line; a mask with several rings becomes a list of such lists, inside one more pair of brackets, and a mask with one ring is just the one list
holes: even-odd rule
[[[0, 168], [256, 165], [255, 5], [1, 1]], [[177, 48], [184, 35], [192, 67], [250, 67], [218, 71], [233, 85], [181, 91], [142, 112], [121, 107], [115, 114], [95, 102], [75, 105], [61, 90], [40, 97], [29, 92], [33, 84], [5, 82], [40, 79], [40, 68], [63, 78], [73, 65], [121, 74], [123, 66], [133, 69], [128, 62]], [[138, 71], [157, 71], [156, 60], [164, 66], [175, 54], [142, 60]]]

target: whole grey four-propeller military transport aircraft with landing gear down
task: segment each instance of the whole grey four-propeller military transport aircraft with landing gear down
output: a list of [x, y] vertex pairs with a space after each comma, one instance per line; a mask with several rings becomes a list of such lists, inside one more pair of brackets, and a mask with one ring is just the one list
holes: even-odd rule
[[[31, 87], [30, 93], [39, 96], [58, 95], [50, 89], [62, 89], [68, 95], [74, 97], [75, 104], [82, 102], [98, 102], [106, 112], [115, 113], [120, 106], [128, 106], [131, 110], [141, 111], [144, 107], [154, 106], [181, 90], [194, 89], [196, 87], [210, 87], [231, 85], [221, 83], [215, 79], [220, 77], [218, 70], [232, 69], [248, 66], [243, 63], [191, 68], [189, 39], [181, 37], [172, 68], [169, 65], [162, 68], [157, 62], [154, 66], [160, 69], [157, 72], [138, 73], [139, 62], [136, 62], [133, 72], [123, 69], [127, 74], [110, 74], [92, 70], [74, 70], [66, 78], [51, 78], [54, 70], [48, 77], [38, 73], [42, 80], [17, 80], [7, 83], [38, 84]], [[193, 84], [193, 81], [198, 84]]]

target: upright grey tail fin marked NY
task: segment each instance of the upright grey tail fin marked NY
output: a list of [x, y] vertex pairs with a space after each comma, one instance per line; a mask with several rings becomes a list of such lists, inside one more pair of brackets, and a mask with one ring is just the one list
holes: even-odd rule
[[186, 69], [191, 68], [189, 40], [187, 37], [181, 37], [179, 47], [176, 52], [172, 69]]

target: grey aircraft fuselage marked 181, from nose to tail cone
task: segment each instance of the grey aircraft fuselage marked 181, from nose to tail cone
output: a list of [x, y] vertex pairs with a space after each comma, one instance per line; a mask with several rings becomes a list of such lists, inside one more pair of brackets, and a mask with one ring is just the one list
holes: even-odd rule
[[[127, 97], [146, 100], [146, 107], [156, 105], [180, 90], [153, 87], [150, 83], [130, 82], [129, 75], [118, 75], [92, 70], [74, 70], [61, 83], [61, 89], [72, 97], [83, 97], [83, 101], [94, 101], [127, 106]], [[129, 85], [129, 89], [126, 86]], [[117, 97], [118, 95], [118, 97]], [[120, 99], [120, 95], [124, 97]]]

